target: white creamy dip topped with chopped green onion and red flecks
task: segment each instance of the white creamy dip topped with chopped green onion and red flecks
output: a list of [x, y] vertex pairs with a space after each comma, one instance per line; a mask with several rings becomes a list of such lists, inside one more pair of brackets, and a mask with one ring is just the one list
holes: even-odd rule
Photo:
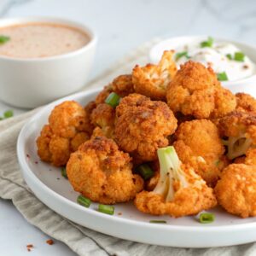
[[234, 44], [215, 42], [213, 38], [185, 44], [177, 48], [176, 53], [178, 67], [189, 60], [198, 61], [212, 67], [222, 81], [245, 79], [255, 73], [255, 64], [241, 49]]

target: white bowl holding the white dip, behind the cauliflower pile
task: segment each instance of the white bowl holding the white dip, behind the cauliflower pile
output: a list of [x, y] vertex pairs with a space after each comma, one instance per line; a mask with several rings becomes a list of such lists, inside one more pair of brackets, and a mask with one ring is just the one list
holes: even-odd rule
[[[195, 40], [205, 40], [207, 36], [188, 36], [188, 37], [177, 37], [169, 38], [160, 43], [156, 44], [149, 50], [149, 60], [156, 63], [160, 60], [160, 57], [164, 50], [166, 49], [177, 49], [177, 47], [183, 44], [189, 44], [195, 42]], [[218, 42], [228, 42], [230, 44], [235, 44], [243, 53], [245, 53], [255, 64], [256, 64], [256, 47], [249, 44], [244, 44], [234, 40], [229, 40], [225, 38], [214, 38]], [[236, 92], [246, 92], [256, 97], [256, 73], [253, 76], [246, 79], [240, 79], [236, 81], [222, 82], [222, 85], [231, 90], [233, 93]]]

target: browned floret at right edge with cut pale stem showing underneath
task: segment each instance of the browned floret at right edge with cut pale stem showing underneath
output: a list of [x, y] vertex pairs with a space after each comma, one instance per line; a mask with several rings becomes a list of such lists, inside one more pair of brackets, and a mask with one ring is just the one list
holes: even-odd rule
[[234, 160], [256, 145], [256, 114], [232, 112], [218, 120], [218, 130], [225, 138], [223, 143], [227, 147], [227, 157]]

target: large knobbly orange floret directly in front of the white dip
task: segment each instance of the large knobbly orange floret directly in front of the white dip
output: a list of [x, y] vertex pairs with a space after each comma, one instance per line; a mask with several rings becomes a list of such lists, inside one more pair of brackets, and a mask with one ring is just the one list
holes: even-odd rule
[[236, 108], [236, 96], [220, 86], [212, 68], [193, 61], [177, 71], [167, 87], [166, 98], [174, 113], [196, 119], [218, 118]]

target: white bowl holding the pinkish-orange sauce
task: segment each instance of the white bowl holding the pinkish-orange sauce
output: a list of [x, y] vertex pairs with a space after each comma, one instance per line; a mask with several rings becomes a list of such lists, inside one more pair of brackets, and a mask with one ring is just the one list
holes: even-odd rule
[[15, 107], [35, 108], [85, 85], [96, 50], [96, 35], [87, 26], [57, 18], [15, 18], [1, 20], [0, 27], [28, 22], [50, 22], [85, 32], [90, 41], [63, 55], [21, 59], [0, 55], [0, 100]]

